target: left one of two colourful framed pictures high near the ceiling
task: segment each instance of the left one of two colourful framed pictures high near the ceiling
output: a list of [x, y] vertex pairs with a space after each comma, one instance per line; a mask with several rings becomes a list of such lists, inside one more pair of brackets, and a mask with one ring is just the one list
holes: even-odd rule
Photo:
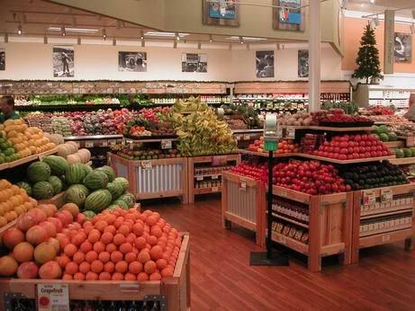
[[239, 27], [238, 0], [202, 0], [203, 24]]

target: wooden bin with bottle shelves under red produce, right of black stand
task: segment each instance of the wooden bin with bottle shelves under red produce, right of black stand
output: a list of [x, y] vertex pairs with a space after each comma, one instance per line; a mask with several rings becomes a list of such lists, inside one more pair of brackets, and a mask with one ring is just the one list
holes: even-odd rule
[[339, 254], [344, 264], [351, 262], [353, 192], [311, 196], [274, 186], [273, 194], [276, 197], [294, 200], [309, 206], [308, 225], [296, 222], [292, 218], [273, 216], [274, 221], [281, 219], [293, 226], [308, 230], [308, 244], [273, 231], [274, 242], [284, 244], [308, 256], [310, 271], [320, 271], [321, 258], [329, 255]]

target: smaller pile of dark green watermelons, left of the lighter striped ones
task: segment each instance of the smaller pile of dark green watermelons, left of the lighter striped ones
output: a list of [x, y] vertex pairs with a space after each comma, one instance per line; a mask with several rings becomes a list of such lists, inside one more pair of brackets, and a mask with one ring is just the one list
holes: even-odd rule
[[68, 161], [57, 155], [48, 155], [42, 162], [34, 162], [26, 171], [26, 180], [18, 182], [29, 196], [36, 200], [47, 200], [67, 187], [65, 172]]

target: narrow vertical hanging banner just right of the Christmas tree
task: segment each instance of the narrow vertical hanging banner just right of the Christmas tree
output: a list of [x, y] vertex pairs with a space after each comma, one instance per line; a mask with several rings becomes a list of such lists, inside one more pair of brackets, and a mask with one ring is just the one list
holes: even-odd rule
[[384, 58], [383, 73], [393, 74], [394, 61], [394, 40], [395, 40], [395, 12], [384, 11]]

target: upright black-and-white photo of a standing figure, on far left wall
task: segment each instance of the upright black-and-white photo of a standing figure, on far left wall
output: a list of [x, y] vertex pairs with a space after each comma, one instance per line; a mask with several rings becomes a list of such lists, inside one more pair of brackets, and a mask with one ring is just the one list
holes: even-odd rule
[[74, 77], [74, 47], [54, 46], [53, 47], [53, 76]]

